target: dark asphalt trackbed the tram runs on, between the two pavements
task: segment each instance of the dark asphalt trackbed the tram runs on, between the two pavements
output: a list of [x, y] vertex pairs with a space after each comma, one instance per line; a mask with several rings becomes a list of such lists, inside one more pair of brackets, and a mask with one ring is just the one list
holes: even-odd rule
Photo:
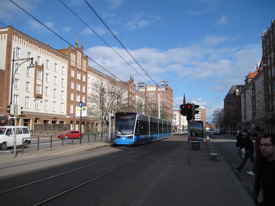
[[[85, 152], [78, 155], [85, 155], [88, 158], [80, 161], [0, 178], [1, 206], [36, 205], [38, 202], [92, 179], [94, 180], [41, 205], [95, 205], [96, 200], [140, 174], [159, 156], [180, 146], [182, 142], [177, 141], [183, 138], [181, 135], [173, 135], [169, 139], [145, 145], [108, 148], [105, 154], [102, 154], [103, 150]], [[99, 152], [101, 155], [94, 156]], [[93, 157], [89, 157], [92, 155]], [[71, 172], [65, 173], [68, 171]], [[107, 174], [101, 176], [104, 173]], [[49, 178], [52, 176], [55, 177]], [[48, 179], [40, 181], [45, 178]], [[35, 181], [40, 182], [26, 185]], [[26, 186], [11, 190], [22, 185]], [[6, 190], [11, 191], [3, 193]]]

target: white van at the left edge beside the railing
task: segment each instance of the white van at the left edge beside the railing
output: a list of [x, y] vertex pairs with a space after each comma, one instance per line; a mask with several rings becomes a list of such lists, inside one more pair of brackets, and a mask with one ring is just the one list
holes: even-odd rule
[[[30, 144], [30, 130], [26, 126], [16, 126], [16, 146], [22, 146], [24, 139], [24, 148]], [[0, 127], [0, 150], [6, 150], [14, 146], [14, 126]]]

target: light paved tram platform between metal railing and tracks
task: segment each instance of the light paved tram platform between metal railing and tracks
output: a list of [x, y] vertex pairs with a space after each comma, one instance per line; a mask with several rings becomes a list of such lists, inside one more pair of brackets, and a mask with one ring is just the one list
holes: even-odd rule
[[[113, 147], [113, 143], [113, 141], [108, 141], [73, 144], [66, 147], [56, 146], [40, 151], [28, 151], [24, 154], [18, 153], [16, 158], [13, 158], [13, 154], [0, 156], [0, 177], [87, 158], [87, 156], [73, 154], [103, 147]], [[26, 166], [26, 164], [28, 165]]]

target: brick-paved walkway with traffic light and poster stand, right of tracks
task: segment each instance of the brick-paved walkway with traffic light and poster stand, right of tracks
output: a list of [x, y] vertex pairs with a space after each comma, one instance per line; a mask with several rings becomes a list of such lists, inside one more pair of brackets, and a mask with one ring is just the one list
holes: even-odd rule
[[200, 151], [190, 151], [189, 166], [187, 139], [181, 143], [92, 205], [254, 205], [219, 151], [218, 161], [211, 161], [207, 143], [201, 143]]

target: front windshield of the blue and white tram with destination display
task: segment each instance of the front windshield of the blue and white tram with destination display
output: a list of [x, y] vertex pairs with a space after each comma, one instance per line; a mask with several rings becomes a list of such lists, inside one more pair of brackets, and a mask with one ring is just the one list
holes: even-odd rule
[[116, 134], [133, 135], [136, 115], [116, 115]]

